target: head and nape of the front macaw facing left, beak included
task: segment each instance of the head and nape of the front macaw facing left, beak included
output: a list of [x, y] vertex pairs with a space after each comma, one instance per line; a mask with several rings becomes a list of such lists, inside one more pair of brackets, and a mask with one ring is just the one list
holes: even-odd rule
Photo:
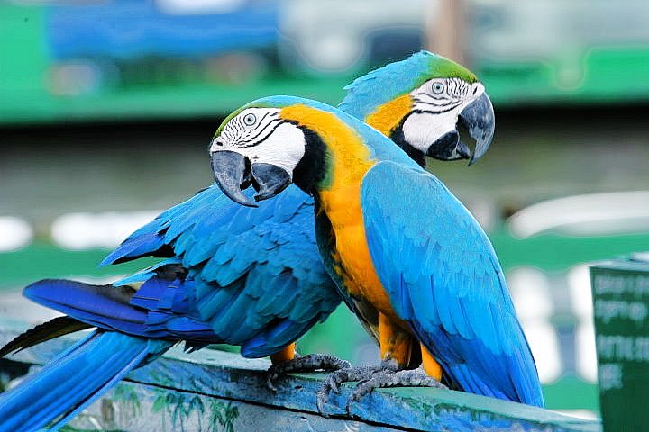
[[336, 177], [340, 166], [355, 172], [383, 157], [414, 165], [364, 122], [324, 103], [293, 96], [265, 97], [230, 114], [216, 130], [210, 156], [221, 190], [234, 202], [251, 207], [255, 202], [242, 193], [251, 185], [257, 191], [254, 200], [261, 201], [291, 183], [315, 193]]

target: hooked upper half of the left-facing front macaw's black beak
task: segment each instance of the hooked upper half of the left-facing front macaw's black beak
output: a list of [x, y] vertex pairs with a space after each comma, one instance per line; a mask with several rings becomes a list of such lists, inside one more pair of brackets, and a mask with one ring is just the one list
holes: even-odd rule
[[215, 151], [212, 157], [212, 172], [216, 184], [228, 198], [248, 207], [257, 207], [243, 193], [251, 184], [251, 166], [246, 157], [230, 150]]

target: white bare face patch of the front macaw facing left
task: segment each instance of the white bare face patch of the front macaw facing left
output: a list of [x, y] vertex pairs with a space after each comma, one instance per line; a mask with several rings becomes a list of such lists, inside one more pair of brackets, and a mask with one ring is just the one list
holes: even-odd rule
[[304, 157], [306, 139], [295, 124], [279, 117], [278, 108], [248, 108], [233, 117], [212, 141], [211, 152], [229, 150], [251, 164], [279, 166], [288, 175]]

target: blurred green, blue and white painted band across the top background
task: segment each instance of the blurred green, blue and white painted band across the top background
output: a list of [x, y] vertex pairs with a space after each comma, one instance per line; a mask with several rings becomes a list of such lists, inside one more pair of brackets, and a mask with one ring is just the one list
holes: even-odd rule
[[[466, 58], [498, 106], [649, 100], [649, 4], [466, 0]], [[0, 0], [0, 123], [223, 115], [336, 103], [426, 46], [434, 2]]]

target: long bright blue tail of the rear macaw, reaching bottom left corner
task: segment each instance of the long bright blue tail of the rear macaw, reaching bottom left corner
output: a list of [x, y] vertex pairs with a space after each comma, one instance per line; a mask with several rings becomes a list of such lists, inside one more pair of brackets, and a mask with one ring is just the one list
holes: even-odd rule
[[63, 426], [134, 368], [173, 343], [97, 330], [0, 394], [0, 432], [30, 432], [59, 419]]

